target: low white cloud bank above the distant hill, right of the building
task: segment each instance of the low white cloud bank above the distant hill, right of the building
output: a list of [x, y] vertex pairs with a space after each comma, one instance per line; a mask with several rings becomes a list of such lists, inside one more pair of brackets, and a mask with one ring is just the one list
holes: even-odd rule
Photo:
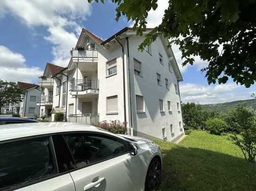
[[181, 84], [182, 102], [199, 102], [201, 104], [224, 103], [235, 100], [251, 99], [250, 89], [235, 83], [217, 85]]

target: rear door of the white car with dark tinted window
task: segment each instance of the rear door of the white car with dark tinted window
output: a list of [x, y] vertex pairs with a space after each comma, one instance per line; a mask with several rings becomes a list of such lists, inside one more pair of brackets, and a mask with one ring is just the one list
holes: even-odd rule
[[75, 191], [60, 175], [50, 136], [0, 142], [0, 191]]

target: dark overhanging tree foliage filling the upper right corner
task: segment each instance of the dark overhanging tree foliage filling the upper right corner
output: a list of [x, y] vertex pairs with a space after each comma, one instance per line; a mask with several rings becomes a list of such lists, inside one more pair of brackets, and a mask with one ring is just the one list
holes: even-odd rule
[[[112, 2], [117, 3], [116, 21], [125, 15], [134, 22], [138, 35], [146, 30], [149, 10], [157, 8], [157, 0]], [[256, 81], [255, 10], [256, 0], [169, 0], [162, 23], [146, 36], [139, 49], [143, 51], [163, 34], [171, 39], [169, 46], [173, 42], [180, 46], [183, 66], [193, 65], [192, 56], [208, 61], [208, 66], [201, 69], [206, 72], [208, 84], [225, 84], [231, 77], [249, 87]]]

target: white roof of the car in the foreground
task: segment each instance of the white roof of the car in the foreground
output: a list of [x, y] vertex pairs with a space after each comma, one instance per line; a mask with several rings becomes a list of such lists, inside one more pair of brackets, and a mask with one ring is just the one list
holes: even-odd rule
[[99, 130], [97, 127], [91, 125], [71, 122], [17, 123], [0, 125], [0, 141], [72, 131], [97, 131], [113, 135], [112, 133]]

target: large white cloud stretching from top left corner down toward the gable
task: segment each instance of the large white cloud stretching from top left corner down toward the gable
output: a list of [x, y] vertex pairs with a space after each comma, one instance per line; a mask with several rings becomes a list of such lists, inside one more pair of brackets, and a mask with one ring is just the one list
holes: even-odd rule
[[87, 0], [1, 0], [0, 12], [0, 18], [10, 14], [28, 27], [47, 27], [45, 39], [53, 44], [53, 63], [66, 66], [82, 28], [75, 20], [85, 21], [91, 15], [91, 4]]

